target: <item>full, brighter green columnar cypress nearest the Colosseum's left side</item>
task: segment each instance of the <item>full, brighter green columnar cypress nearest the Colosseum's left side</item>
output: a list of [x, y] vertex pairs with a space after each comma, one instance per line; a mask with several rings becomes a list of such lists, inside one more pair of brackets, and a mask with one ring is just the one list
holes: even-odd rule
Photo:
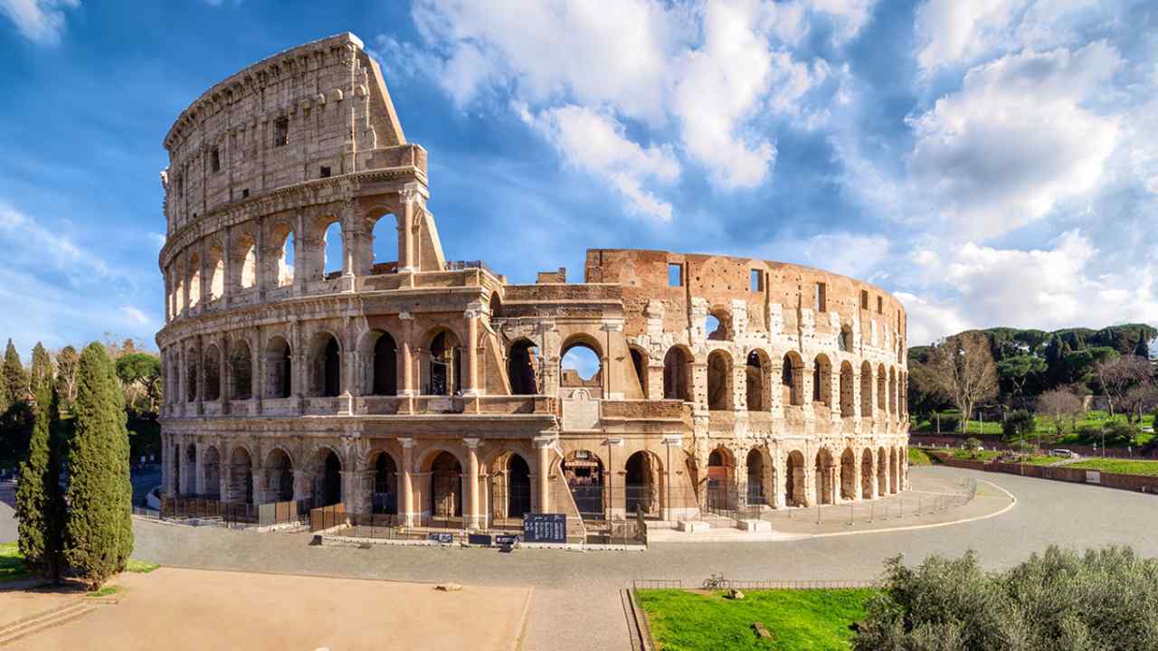
[[81, 353], [73, 415], [66, 556], [95, 590], [125, 569], [133, 546], [124, 397], [98, 343]]

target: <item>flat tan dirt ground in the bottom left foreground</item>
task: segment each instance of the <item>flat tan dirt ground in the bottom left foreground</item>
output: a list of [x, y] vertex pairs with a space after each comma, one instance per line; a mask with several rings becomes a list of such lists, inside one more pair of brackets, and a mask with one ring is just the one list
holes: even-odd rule
[[[29, 651], [277, 649], [513, 650], [528, 587], [433, 584], [161, 568], [125, 573], [118, 604], [17, 641]], [[0, 593], [0, 627], [60, 605], [60, 597]], [[73, 597], [73, 599], [85, 599]]]

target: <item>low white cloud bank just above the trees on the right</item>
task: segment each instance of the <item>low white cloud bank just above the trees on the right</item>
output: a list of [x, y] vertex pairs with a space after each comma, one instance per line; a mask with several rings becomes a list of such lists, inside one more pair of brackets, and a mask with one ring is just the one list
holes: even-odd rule
[[[1158, 259], [1099, 273], [1105, 256], [1077, 231], [1045, 249], [999, 249], [973, 242], [952, 250], [918, 250], [922, 290], [899, 293], [914, 344], [968, 328], [1010, 326], [1043, 330], [1100, 328], [1158, 315]], [[922, 294], [918, 298], [916, 294]]]

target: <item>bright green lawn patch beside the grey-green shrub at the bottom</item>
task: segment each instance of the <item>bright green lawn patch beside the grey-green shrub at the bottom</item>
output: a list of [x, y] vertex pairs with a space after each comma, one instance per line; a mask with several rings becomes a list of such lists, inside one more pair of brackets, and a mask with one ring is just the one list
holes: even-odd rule
[[[745, 599], [683, 590], [642, 590], [652, 638], [665, 651], [848, 649], [849, 628], [865, 617], [875, 590], [756, 590]], [[771, 639], [752, 628], [763, 622]]]

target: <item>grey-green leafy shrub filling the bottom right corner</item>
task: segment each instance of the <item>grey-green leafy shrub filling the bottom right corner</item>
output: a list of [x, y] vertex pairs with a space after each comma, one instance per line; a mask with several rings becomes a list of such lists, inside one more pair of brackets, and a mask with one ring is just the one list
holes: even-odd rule
[[1050, 547], [1003, 572], [974, 553], [886, 562], [853, 649], [906, 651], [1158, 649], [1158, 559], [1111, 547]]

